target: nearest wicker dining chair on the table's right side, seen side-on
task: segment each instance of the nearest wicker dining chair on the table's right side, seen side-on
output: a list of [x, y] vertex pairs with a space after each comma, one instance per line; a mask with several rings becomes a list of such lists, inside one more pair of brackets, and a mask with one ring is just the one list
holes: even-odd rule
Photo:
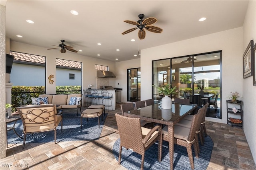
[[[196, 140], [196, 129], [200, 127], [202, 115], [203, 115], [203, 109], [199, 109], [198, 113], [193, 115], [193, 120], [190, 128], [174, 125], [174, 143], [177, 145], [186, 147], [192, 170], [194, 170], [192, 145], [194, 146], [196, 158], [199, 158], [198, 148], [197, 148], [198, 146], [196, 145], [195, 140]], [[165, 126], [162, 129], [162, 134], [163, 134], [164, 141], [169, 141], [168, 126]]]

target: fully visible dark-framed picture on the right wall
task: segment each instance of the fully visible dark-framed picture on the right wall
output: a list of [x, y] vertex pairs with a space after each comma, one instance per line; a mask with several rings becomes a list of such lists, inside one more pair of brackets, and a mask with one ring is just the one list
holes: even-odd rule
[[244, 55], [243, 55], [243, 78], [250, 77], [254, 75], [254, 50], [253, 50], [253, 40], [248, 44]]

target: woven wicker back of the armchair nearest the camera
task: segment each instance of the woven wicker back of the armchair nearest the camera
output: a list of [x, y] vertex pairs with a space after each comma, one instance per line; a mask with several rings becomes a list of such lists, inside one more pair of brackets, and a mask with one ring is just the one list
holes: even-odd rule
[[120, 145], [126, 149], [132, 149], [138, 154], [143, 154], [144, 145], [142, 144], [140, 119], [126, 117], [116, 113], [116, 123], [120, 135]]

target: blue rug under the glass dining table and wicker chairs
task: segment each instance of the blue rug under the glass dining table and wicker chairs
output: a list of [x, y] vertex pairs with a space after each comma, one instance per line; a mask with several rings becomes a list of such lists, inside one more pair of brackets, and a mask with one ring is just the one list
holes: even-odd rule
[[[200, 145], [200, 144], [199, 144]], [[120, 139], [118, 139], [113, 146], [113, 153], [118, 161], [120, 147]], [[206, 170], [211, 154], [212, 154], [213, 142], [212, 139], [207, 136], [205, 138], [204, 146], [200, 145], [200, 154], [199, 158], [195, 157], [194, 149], [193, 157], [195, 170]], [[158, 154], [158, 144], [155, 143], [145, 152], [144, 159], [144, 170], [170, 170], [170, 156], [169, 156], [169, 147], [168, 142], [163, 142], [162, 149], [162, 161], [158, 162], [157, 154]], [[190, 162], [188, 159], [188, 153], [185, 147], [174, 144], [174, 170], [191, 170]], [[140, 170], [141, 165], [141, 155], [133, 152], [132, 150], [126, 150], [124, 147], [122, 148], [122, 157], [121, 157], [121, 165], [127, 168], [128, 170]]]

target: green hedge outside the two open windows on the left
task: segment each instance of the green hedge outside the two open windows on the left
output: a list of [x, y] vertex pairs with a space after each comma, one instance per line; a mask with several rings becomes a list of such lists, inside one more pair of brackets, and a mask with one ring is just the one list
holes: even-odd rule
[[[80, 93], [81, 86], [56, 86], [56, 94]], [[16, 111], [16, 107], [31, 104], [31, 98], [39, 94], [45, 94], [44, 86], [12, 86], [12, 112]]]

